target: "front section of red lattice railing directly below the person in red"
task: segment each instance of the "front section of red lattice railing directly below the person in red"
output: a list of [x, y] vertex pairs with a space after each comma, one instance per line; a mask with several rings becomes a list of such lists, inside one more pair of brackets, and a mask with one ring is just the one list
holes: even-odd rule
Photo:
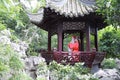
[[91, 67], [95, 58], [95, 53], [93, 52], [78, 52], [73, 55], [69, 55], [68, 52], [54, 52], [53, 54], [54, 60], [58, 63], [74, 64], [77, 62], [85, 62], [85, 66], [87, 67]]

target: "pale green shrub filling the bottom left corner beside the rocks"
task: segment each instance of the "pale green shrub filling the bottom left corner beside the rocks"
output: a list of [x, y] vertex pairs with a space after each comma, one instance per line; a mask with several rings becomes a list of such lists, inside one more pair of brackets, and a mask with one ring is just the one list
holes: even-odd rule
[[[0, 43], [0, 79], [31, 80], [22, 70], [24, 64], [10, 45]], [[10, 76], [9, 76], [10, 75]]]

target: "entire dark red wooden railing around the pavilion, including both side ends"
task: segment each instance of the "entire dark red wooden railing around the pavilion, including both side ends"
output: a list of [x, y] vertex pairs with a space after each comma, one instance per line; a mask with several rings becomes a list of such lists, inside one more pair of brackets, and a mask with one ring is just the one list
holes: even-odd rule
[[105, 57], [105, 53], [103, 52], [84, 52], [79, 51], [72, 55], [69, 55], [68, 52], [44, 52], [42, 56], [46, 59], [46, 62], [50, 62], [52, 60], [57, 61], [58, 63], [62, 64], [75, 64], [77, 62], [84, 62], [85, 66], [92, 67], [94, 65], [100, 65]]

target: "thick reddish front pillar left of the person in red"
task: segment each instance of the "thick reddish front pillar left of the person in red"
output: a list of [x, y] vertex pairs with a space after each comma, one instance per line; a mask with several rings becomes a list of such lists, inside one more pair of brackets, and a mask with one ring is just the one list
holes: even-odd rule
[[62, 51], [63, 46], [63, 32], [62, 32], [62, 25], [58, 26], [58, 51]]

